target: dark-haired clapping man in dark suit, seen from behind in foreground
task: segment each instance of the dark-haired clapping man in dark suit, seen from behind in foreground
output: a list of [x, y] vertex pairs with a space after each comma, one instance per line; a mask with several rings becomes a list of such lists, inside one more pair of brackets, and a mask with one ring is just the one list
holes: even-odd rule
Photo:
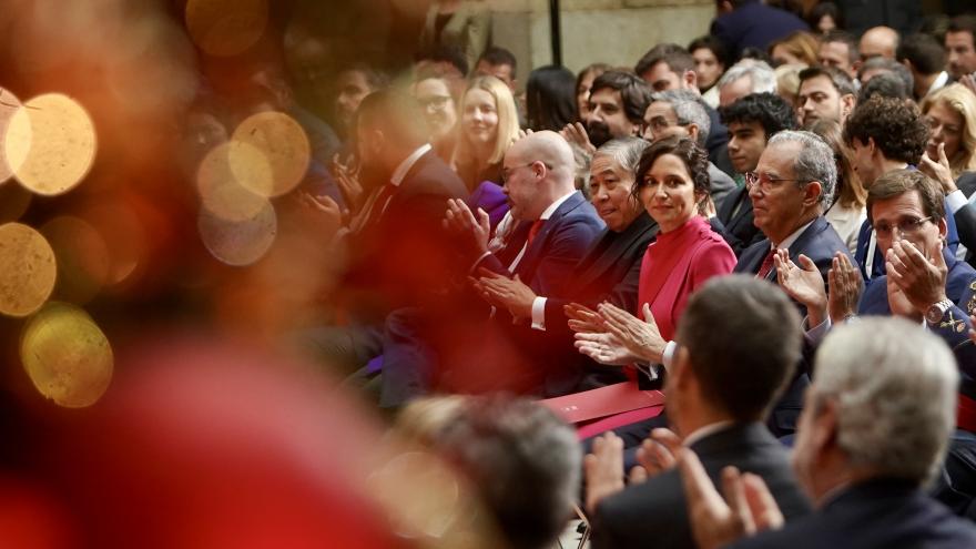
[[[715, 322], [732, 317], [735, 323]], [[719, 478], [729, 465], [742, 467], [773, 487], [787, 516], [807, 512], [785, 447], [762, 424], [800, 359], [795, 307], [760, 281], [716, 277], [689, 301], [677, 339], [665, 390], [668, 418], [683, 444], [702, 456], [710, 477]], [[744, 364], [748, 376], [742, 375]], [[610, 435], [594, 444], [596, 455], [586, 460], [593, 547], [693, 547], [677, 470], [612, 494], [619, 490], [614, 482], [622, 486], [621, 447]]]

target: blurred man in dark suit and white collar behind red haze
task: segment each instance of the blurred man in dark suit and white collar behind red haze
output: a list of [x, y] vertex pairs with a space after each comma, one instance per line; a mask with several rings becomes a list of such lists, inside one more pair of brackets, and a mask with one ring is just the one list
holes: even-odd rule
[[[420, 119], [414, 99], [393, 90], [372, 93], [359, 105], [359, 177], [369, 195], [333, 242], [336, 257], [347, 258], [338, 301], [349, 323], [298, 335], [301, 347], [349, 372], [382, 352], [392, 311], [440, 307], [437, 291], [460, 268], [441, 220], [448, 199], [467, 191], [431, 151]], [[326, 200], [321, 209], [339, 224], [335, 202]]]

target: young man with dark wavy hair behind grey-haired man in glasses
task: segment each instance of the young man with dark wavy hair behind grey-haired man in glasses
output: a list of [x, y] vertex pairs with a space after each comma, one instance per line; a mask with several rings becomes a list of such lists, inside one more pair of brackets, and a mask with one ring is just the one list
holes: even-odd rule
[[[783, 130], [796, 128], [793, 108], [773, 93], [753, 93], [720, 109], [729, 126], [729, 156], [740, 174], [752, 172], [766, 142]], [[759, 242], [763, 235], [753, 223], [752, 201], [745, 185], [730, 192], [718, 211], [725, 225], [725, 242], [735, 255]]]

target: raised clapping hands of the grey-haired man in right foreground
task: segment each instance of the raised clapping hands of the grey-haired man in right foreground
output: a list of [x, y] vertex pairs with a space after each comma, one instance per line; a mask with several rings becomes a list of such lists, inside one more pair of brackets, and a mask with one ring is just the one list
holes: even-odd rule
[[700, 549], [718, 549], [756, 531], [783, 526], [783, 514], [759, 476], [725, 467], [722, 499], [694, 451], [681, 450], [678, 469], [688, 498], [691, 531]]

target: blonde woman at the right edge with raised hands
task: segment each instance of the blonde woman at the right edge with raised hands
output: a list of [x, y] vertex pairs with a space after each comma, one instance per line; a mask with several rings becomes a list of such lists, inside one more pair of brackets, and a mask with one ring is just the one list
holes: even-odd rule
[[[954, 180], [976, 171], [976, 95], [963, 84], [947, 85], [925, 96], [922, 114], [932, 130], [925, 151], [928, 159], [937, 163], [942, 145]], [[969, 196], [973, 190], [963, 192]]]

